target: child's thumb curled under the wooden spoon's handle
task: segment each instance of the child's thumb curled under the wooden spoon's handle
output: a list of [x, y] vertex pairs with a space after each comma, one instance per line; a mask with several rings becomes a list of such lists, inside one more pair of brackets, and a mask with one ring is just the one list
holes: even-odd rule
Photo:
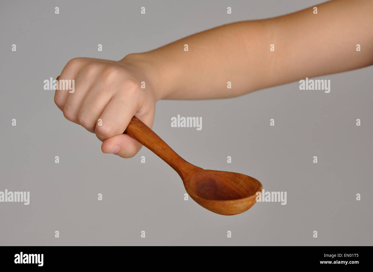
[[[148, 127], [153, 126], [154, 109], [145, 115], [135, 114]], [[122, 158], [131, 158], [137, 154], [142, 145], [127, 134], [120, 134], [104, 140], [101, 145], [103, 153], [113, 153]]]

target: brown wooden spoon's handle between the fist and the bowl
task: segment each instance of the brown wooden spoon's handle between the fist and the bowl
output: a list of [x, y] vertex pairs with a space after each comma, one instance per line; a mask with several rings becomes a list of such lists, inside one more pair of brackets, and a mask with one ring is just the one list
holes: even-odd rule
[[183, 180], [200, 169], [180, 157], [136, 116], [132, 117], [123, 133], [128, 134], [140, 144], [150, 149], [154, 154], [171, 166]]

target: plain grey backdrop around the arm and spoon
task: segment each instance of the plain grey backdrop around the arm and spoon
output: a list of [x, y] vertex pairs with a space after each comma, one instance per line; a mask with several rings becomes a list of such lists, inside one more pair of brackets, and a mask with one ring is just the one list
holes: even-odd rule
[[[178, 174], [145, 147], [131, 159], [103, 154], [95, 135], [66, 120], [54, 91], [43, 89], [73, 57], [119, 60], [214, 26], [313, 4], [3, 1], [0, 191], [30, 191], [31, 200], [0, 203], [0, 245], [372, 245], [373, 67], [320, 77], [331, 80], [329, 94], [300, 91], [294, 82], [234, 99], [157, 102], [153, 130], [184, 159], [287, 191], [286, 205], [257, 203], [235, 216], [184, 201]], [[202, 117], [202, 130], [172, 128], [178, 114]]]

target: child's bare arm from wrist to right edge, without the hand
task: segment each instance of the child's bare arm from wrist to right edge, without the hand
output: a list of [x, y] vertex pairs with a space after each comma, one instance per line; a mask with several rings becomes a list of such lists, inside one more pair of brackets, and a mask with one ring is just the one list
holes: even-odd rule
[[223, 25], [138, 57], [157, 71], [158, 99], [234, 97], [372, 65], [373, 1], [334, 0], [316, 6], [318, 14], [310, 7], [276, 18]]

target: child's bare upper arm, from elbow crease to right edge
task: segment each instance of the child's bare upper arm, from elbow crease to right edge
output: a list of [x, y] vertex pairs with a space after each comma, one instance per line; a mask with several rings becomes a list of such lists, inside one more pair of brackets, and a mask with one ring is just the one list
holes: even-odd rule
[[318, 14], [310, 7], [268, 20], [276, 46], [264, 87], [373, 64], [373, 1], [335, 0], [316, 6]]

